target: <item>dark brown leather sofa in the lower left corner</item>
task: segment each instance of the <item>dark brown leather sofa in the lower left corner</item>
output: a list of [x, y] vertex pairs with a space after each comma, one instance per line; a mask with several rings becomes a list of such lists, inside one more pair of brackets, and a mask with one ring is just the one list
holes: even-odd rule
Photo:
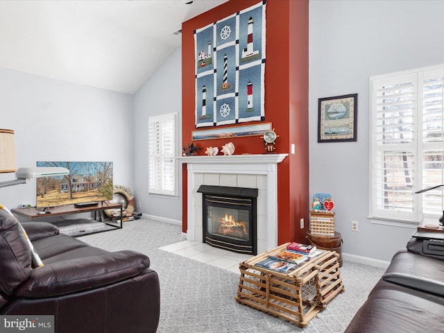
[[160, 287], [148, 257], [89, 246], [50, 223], [22, 226], [44, 266], [31, 268], [20, 223], [0, 210], [0, 314], [53, 315], [58, 333], [157, 330]]

